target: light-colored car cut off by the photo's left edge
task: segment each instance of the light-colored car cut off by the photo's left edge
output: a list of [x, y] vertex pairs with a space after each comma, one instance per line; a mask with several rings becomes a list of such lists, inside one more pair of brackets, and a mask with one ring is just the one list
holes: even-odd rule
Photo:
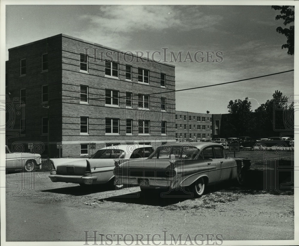
[[5, 167], [7, 170], [24, 170], [32, 172], [36, 165], [42, 165], [40, 154], [11, 152], [6, 145], [5, 157]]

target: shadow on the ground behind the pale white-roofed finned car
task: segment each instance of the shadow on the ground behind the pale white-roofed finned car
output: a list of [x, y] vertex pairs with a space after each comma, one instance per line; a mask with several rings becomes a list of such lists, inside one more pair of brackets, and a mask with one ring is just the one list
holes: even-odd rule
[[101, 184], [92, 186], [71, 186], [57, 189], [42, 190], [41, 192], [51, 192], [65, 195], [82, 196], [98, 192], [115, 191], [115, 187], [112, 185]]

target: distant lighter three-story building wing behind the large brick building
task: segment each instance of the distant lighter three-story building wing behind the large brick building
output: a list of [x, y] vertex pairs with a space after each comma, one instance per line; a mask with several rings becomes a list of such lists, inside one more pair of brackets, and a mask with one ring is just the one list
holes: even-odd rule
[[212, 115], [176, 111], [176, 139], [212, 138]]

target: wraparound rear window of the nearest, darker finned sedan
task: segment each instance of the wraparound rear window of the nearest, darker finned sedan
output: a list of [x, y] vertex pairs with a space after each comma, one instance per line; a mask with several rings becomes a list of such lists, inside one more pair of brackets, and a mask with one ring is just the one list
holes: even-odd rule
[[164, 145], [157, 148], [148, 159], [184, 158], [187, 160], [194, 160], [198, 153], [199, 149], [190, 145]]

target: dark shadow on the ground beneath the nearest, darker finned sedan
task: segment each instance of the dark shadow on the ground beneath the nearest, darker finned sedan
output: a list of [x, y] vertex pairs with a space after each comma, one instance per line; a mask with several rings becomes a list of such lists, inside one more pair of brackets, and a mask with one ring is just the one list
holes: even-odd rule
[[98, 199], [100, 202], [111, 201], [129, 204], [142, 204], [149, 206], [168, 206], [193, 198], [193, 194], [183, 191], [168, 192], [164, 189], [156, 189], [155, 192], [134, 192], [109, 198]]

